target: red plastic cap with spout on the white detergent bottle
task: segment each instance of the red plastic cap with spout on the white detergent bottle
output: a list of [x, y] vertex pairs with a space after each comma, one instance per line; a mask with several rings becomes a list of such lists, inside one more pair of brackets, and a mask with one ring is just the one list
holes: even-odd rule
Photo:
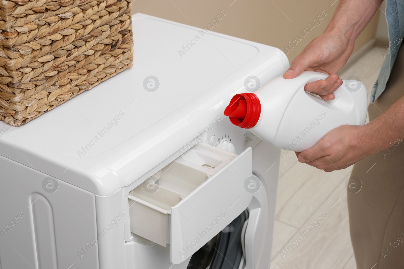
[[233, 96], [225, 109], [225, 116], [231, 123], [245, 129], [254, 127], [260, 115], [261, 103], [257, 95], [250, 92]]

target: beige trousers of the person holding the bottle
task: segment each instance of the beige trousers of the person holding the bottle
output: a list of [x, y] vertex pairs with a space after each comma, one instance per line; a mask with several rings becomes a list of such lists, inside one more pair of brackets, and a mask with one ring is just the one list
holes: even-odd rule
[[[382, 111], [403, 95], [404, 48], [401, 47], [385, 91], [369, 105], [370, 120], [382, 115]], [[403, 139], [402, 134], [385, 151], [353, 166], [351, 178], [357, 177], [362, 182], [359, 192], [348, 191], [349, 225], [357, 269], [404, 268]]]

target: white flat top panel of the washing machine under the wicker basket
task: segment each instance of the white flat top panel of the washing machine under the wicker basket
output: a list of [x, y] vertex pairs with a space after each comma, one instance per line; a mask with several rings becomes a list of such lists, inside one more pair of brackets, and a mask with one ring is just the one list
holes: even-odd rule
[[0, 154], [109, 195], [200, 135], [246, 77], [262, 85], [289, 64], [277, 48], [141, 13], [133, 38], [132, 69], [21, 127], [1, 121]]

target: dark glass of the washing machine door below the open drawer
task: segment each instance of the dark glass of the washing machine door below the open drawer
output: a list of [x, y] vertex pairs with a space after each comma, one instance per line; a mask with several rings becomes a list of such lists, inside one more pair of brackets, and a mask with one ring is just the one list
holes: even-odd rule
[[192, 255], [187, 269], [242, 269], [244, 268], [243, 231], [248, 210], [241, 213], [215, 238]]

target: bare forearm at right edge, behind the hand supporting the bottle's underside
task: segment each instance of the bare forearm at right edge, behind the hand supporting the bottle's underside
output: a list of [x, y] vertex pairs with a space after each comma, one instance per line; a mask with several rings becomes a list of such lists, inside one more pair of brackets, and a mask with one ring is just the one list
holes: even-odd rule
[[[360, 143], [376, 154], [404, 139], [404, 96], [370, 123], [359, 127]], [[397, 144], [396, 144], [397, 146]]]

